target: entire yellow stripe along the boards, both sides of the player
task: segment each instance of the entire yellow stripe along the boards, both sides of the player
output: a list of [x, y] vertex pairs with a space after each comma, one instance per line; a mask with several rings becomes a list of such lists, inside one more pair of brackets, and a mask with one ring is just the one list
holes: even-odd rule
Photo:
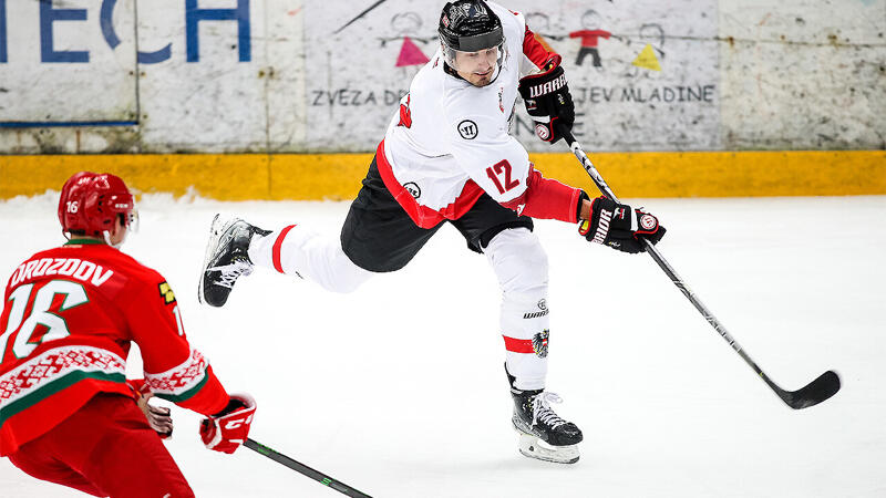
[[[596, 188], [569, 153], [530, 154], [546, 177]], [[591, 160], [630, 197], [886, 194], [886, 151], [599, 153]], [[351, 199], [371, 154], [0, 156], [0, 199], [61, 189], [80, 170], [113, 173], [142, 193], [218, 200]]]

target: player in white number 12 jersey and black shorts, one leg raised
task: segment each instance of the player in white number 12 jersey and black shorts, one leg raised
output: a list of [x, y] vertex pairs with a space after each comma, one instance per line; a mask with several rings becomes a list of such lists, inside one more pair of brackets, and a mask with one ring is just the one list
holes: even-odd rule
[[657, 242], [664, 229], [652, 215], [545, 178], [508, 134], [518, 93], [546, 142], [562, 138], [575, 120], [560, 56], [535, 39], [522, 14], [459, 0], [443, 8], [439, 33], [440, 50], [394, 113], [340, 238], [216, 216], [199, 299], [224, 305], [254, 266], [350, 292], [403, 268], [450, 222], [486, 256], [503, 291], [498, 333], [521, 453], [575, 463], [581, 430], [557, 416], [550, 403], [560, 398], [545, 391], [548, 263], [533, 218], [578, 224], [588, 241], [627, 252], [643, 250], [640, 238]]

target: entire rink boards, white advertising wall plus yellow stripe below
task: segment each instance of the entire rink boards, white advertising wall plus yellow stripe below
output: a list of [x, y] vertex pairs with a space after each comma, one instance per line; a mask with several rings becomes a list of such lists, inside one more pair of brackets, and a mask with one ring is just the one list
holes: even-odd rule
[[[350, 198], [442, 4], [0, 0], [0, 198], [80, 169]], [[576, 136], [620, 197], [886, 194], [886, 0], [505, 4], [563, 54]], [[593, 189], [521, 104], [512, 129]]]

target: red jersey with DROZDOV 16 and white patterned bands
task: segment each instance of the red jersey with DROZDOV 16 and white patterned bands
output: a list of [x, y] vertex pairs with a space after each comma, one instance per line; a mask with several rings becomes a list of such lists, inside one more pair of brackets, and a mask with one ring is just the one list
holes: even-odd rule
[[14, 453], [96, 393], [126, 385], [131, 341], [158, 397], [210, 415], [228, 394], [185, 338], [156, 271], [95, 240], [38, 252], [12, 272], [0, 315], [0, 456]]

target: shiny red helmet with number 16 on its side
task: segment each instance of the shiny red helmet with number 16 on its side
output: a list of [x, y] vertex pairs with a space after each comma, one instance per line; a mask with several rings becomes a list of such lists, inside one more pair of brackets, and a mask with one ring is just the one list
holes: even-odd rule
[[134, 228], [135, 199], [119, 176], [80, 172], [64, 183], [59, 199], [62, 231], [103, 237], [119, 215], [126, 228]]

